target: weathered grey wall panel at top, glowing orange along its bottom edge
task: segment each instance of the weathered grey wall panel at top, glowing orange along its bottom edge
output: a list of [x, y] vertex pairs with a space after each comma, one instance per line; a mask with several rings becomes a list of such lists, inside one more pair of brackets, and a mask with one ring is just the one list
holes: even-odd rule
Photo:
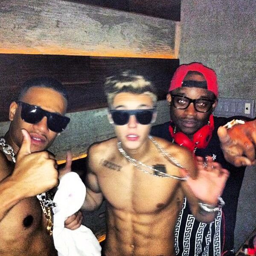
[[61, 0], [1, 0], [0, 53], [175, 58], [175, 22]]

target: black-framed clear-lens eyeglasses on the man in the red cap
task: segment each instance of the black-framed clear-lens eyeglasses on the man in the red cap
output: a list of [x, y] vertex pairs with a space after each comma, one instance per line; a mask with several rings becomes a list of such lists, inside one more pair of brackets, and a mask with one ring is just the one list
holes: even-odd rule
[[210, 99], [190, 99], [183, 95], [171, 94], [172, 105], [177, 109], [186, 109], [192, 102], [196, 111], [205, 113], [212, 109], [212, 105], [215, 102]]

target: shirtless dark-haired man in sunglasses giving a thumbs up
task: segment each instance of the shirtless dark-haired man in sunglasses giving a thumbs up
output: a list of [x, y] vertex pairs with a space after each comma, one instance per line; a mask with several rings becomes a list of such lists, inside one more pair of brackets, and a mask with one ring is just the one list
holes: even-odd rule
[[11, 124], [4, 140], [17, 161], [0, 146], [1, 256], [57, 255], [36, 195], [58, 184], [54, 157], [44, 150], [66, 128], [66, 109], [67, 94], [54, 79], [28, 81], [10, 105]]

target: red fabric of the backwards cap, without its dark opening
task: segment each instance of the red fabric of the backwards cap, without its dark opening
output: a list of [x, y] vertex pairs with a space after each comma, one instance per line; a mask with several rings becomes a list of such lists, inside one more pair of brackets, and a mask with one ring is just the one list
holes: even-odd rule
[[183, 64], [177, 68], [172, 77], [169, 92], [182, 86], [183, 79], [189, 71], [197, 71], [202, 73], [207, 82], [207, 90], [218, 96], [218, 82], [215, 71], [198, 62]]

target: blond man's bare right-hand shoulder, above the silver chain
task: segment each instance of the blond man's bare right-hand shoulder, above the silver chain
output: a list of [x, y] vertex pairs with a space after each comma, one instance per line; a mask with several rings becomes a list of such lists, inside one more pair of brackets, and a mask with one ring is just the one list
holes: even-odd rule
[[186, 169], [194, 169], [195, 163], [194, 163], [194, 157], [191, 151], [189, 151], [187, 148], [174, 144], [170, 141], [164, 140], [159, 137], [154, 137], [154, 140], [159, 143], [159, 145], [168, 152], [172, 157], [177, 160], [180, 165], [185, 167]]

